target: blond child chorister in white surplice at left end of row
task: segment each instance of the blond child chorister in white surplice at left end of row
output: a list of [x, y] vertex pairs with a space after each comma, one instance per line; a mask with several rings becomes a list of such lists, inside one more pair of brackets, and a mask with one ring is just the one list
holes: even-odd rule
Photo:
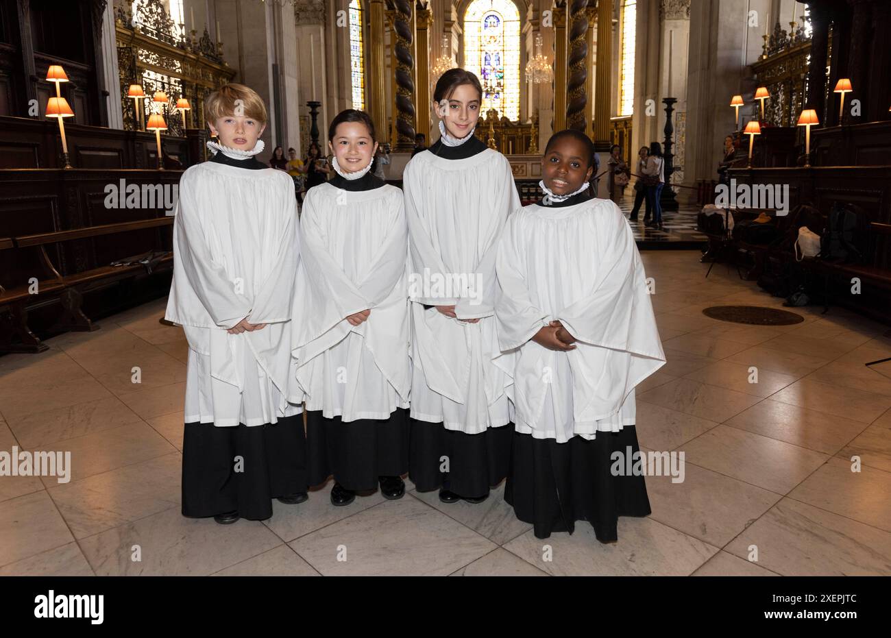
[[180, 180], [166, 316], [189, 342], [183, 514], [225, 524], [307, 499], [302, 409], [287, 402], [298, 219], [290, 176], [255, 157], [259, 95], [222, 86], [205, 119], [217, 141]]

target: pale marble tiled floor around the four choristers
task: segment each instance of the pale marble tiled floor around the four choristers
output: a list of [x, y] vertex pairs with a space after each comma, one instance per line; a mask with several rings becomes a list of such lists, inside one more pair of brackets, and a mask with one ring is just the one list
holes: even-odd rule
[[683, 452], [685, 478], [648, 477], [653, 512], [620, 519], [616, 544], [585, 523], [536, 539], [503, 487], [342, 508], [323, 487], [264, 522], [184, 519], [186, 344], [158, 300], [0, 357], [0, 451], [72, 461], [65, 484], [0, 478], [0, 575], [891, 575], [891, 363], [863, 365], [891, 356], [887, 327], [822, 307], [715, 321], [701, 310], [781, 300], [725, 266], [705, 279], [698, 257], [643, 253], [668, 363], [638, 389], [638, 434]]

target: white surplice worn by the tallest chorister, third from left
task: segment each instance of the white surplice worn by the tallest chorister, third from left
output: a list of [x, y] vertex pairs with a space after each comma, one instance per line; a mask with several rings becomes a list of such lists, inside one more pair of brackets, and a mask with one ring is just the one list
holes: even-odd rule
[[[511, 421], [511, 377], [495, 364], [495, 250], [519, 209], [511, 165], [486, 149], [466, 159], [425, 151], [403, 174], [413, 323], [412, 417], [478, 434]], [[437, 286], [436, 282], [472, 282]], [[424, 285], [432, 283], [431, 286]], [[463, 323], [435, 307], [455, 305]]]

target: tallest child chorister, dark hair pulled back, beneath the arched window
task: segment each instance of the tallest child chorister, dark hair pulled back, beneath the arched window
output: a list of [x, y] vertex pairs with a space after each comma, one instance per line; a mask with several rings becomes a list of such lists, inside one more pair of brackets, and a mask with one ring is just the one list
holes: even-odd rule
[[479, 503], [506, 476], [510, 376], [495, 336], [495, 246], [519, 209], [511, 166], [473, 135], [478, 78], [452, 69], [433, 94], [440, 139], [405, 167], [413, 321], [410, 478], [444, 503]]

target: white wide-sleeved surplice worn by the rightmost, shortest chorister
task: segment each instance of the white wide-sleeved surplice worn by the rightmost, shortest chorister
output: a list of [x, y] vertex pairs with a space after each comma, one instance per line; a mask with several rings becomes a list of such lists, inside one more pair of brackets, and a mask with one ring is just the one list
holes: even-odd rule
[[[634, 425], [634, 387], [666, 357], [634, 234], [616, 204], [520, 209], [505, 226], [496, 268], [517, 431], [564, 443]], [[554, 319], [578, 339], [575, 350], [529, 340]]]

